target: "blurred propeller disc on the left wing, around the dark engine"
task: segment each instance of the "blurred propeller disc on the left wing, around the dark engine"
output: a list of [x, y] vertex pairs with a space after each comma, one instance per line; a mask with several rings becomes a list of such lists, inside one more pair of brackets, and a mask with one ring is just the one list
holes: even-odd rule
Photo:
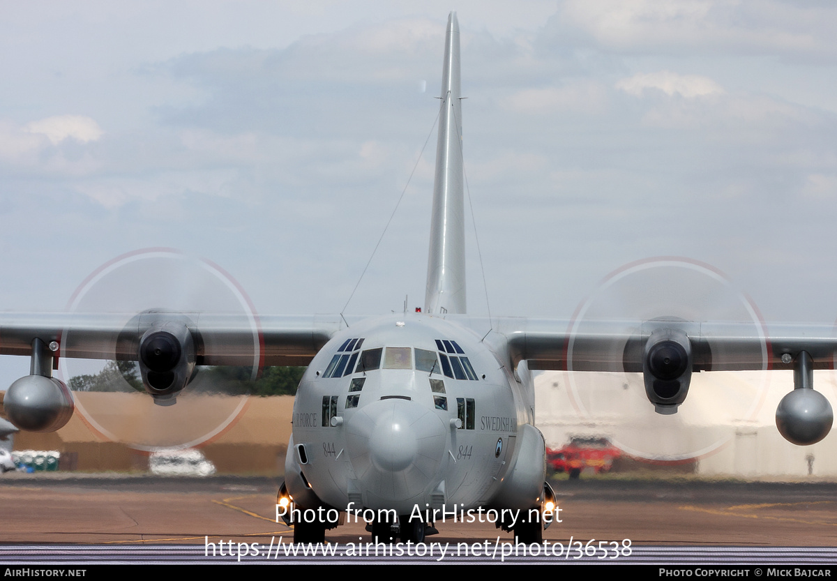
[[[217, 265], [177, 250], [138, 250], [100, 266], [74, 292], [68, 311], [119, 313], [126, 325], [143, 311], [246, 317], [253, 331], [252, 359], [247, 355], [252, 366], [246, 375], [255, 379], [259, 372], [259, 325], [249, 297]], [[69, 330], [62, 335], [62, 345], [69, 348], [79, 340]], [[101, 360], [62, 357], [59, 377], [72, 388], [74, 378], [88, 376], [88, 381], [76, 385], [96, 391], [74, 392], [81, 418], [100, 437], [136, 450], [206, 444], [231, 428], [247, 407], [248, 399], [236, 393], [238, 382], [224, 381], [204, 370], [177, 395], [177, 404], [157, 405], [144, 389], [137, 390], [141, 379], [136, 362], [120, 362], [119, 369], [116, 365], [108, 362], [103, 369]]]

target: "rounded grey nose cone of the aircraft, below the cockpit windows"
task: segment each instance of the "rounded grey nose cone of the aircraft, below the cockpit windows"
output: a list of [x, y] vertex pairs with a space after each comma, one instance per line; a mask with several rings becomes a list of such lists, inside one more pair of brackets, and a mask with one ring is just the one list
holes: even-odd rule
[[358, 409], [346, 428], [352, 468], [371, 496], [407, 501], [434, 484], [447, 432], [432, 410], [405, 398], [383, 398]]

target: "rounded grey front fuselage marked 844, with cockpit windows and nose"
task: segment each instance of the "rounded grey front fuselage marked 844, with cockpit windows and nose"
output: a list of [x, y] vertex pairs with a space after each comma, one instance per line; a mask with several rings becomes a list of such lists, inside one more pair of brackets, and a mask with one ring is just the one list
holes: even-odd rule
[[[352, 325], [300, 382], [290, 495], [398, 515], [490, 506], [514, 469], [521, 426], [532, 423], [524, 389], [480, 337], [442, 318], [403, 313]], [[289, 477], [297, 471], [303, 477]], [[534, 478], [542, 486], [542, 471]]]

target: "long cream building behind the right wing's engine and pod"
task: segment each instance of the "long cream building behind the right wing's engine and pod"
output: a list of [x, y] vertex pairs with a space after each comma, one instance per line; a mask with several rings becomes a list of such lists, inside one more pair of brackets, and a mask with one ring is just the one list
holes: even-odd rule
[[[834, 406], [834, 372], [814, 372], [814, 386]], [[776, 406], [792, 389], [789, 371], [695, 373], [686, 403], [661, 416], [639, 373], [542, 372], [535, 376], [535, 418], [549, 447], [606, 437], [658, 464], [696, 460], [695, 471], [705, 476], [837, 476], [837, 430], [810, 446], [778, 433]]]

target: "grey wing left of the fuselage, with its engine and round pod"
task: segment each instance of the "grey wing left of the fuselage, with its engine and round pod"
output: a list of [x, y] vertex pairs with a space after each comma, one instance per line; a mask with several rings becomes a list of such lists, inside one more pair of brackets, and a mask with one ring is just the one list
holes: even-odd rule
[[64, 426], [74, 398], [52, 377], [59, 357], [137, 361], [146, 392], [155, 404], [169, 406], [194, 377], [196, 365], [307, 365], [340, 321], [339, 316], [164, 311], [6, 313], [0, 315], [0, 355], [31, 360], [29, 375], [8, 388], [3, 409], [21, 429]]

